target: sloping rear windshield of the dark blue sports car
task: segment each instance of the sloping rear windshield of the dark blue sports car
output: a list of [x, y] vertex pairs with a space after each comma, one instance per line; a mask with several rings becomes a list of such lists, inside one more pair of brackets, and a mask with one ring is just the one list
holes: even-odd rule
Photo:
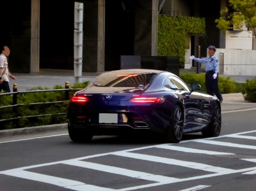
[[145, 87], [156, 73], [103, 73], [94, 81], [97, 87]]

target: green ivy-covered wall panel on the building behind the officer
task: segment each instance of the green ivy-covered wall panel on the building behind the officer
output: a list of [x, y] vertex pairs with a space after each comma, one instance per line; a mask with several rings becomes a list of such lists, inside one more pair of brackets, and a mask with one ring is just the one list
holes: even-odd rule
[[159, 15], [158, 55], [179, 57], [180, 65], [183, 67], [185, 63], [185, 39], [190, 35], [205, 35], [204, 18]]

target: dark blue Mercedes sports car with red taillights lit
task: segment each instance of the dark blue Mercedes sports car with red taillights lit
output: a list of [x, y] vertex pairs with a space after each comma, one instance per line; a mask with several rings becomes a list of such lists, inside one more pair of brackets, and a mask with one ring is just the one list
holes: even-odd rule
[[153, 132], [166, 143], [184, 133], [216, 137], [222, 125], [220, 101], [194, 92], [178, 76], [154, 69], [121, 69], [100, 74], [69, 101], [68, 132], [75, 142], [93, 136]]

